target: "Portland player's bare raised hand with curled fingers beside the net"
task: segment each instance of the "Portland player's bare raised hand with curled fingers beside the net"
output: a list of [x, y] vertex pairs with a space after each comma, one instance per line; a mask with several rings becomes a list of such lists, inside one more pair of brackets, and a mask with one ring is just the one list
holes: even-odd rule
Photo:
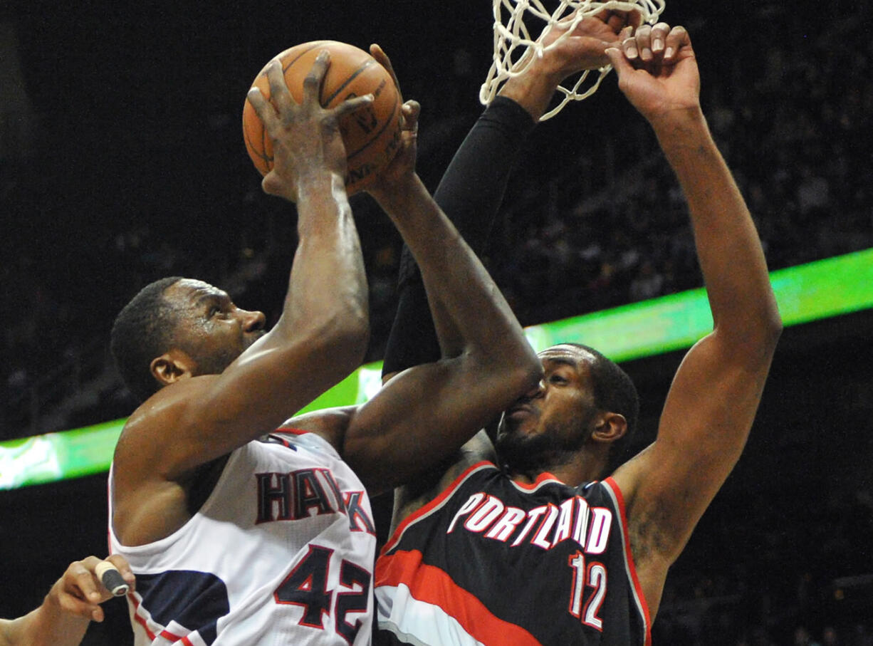
[[684, 27], [643, 25], [607, 54], [619, 89], [652, 125], [699, 111], [698, 64]]

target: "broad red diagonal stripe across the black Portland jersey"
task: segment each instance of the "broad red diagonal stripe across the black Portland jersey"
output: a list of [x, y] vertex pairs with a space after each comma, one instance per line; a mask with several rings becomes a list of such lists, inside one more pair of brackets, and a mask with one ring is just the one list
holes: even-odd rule
[[403, 584], [417, 600], [442, 608], [481, 643], [540, 646], [526, 629], [491, 614], [482, 601], [457, 586], [439, 567], [422, 564], [418, 550], [396, 552], [376, 561], [376, 586]]

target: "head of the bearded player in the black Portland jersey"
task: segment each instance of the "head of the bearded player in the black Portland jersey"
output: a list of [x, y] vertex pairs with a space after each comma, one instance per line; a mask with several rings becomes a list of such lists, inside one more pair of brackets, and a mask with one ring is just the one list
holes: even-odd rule
[[630, 377], [594, 348], [561, 343], [540, 353], [540, 385], [506, 409], [497, 449], [512, 469], [546, 469], [583, 447], [619, 452], [636, 427], [639, 397]]

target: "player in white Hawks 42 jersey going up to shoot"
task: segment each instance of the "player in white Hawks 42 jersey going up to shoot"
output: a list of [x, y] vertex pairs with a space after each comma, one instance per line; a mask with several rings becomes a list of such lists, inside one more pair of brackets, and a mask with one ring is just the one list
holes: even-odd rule
[[[540, 380], [518, 322], [415, 173], [418, 107], [370, 192], [450, 322], [433, 362], [360, 408], [283, 420], [345, 377], [367, 343], [367, 285], [343, 187], [337, 120], [372, 97], [319, 105], [321, 55], [297, 105], [280, 66], [249, 100], [273, 141], [268, 193], [297, 203], [299, 245], [280, 320], [214, 286], [167, 278], [120, 313], [113, 351], [146, 401], [110, 471], [110, 540], [130, 561], [136, 644], [364, 644], [375, 527], [368, 491], [432, 465]], [[434, 427], [440, 430], [434, 433]], [[277, 431], [278, 429], [278, 431]], [[460, 435], [463, 431], [464, 435]], [[354, 471], [353, 471], [354, 470]]]

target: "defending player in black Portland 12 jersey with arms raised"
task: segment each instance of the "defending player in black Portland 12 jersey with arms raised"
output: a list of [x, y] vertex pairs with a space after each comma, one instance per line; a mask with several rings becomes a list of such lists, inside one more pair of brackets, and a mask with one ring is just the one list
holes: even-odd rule
[[[781, 329], [764, 254], [706, 126], [688, 34], [657, 24], [623, 36], [605, 53], [684, 189], [714, 329], [678, 369], [655, 442], [611, 474], [610, 454], [636, 423], [629, 377], [590, 347], [540, 353], [544, 379], [505, 409], [496, 445], [480, 433], [447, 468], [395, 493], [376, 565], [383, 643], [649, 644], [668, 568], [746, 443]], [[528, 124], [538, 119], [537, 103], [508, 86]], [[474, 127], [437, 199], [461, 178], [505, 171], [464, 150], [493, 140], [511, 154], [496, 121], [506, 132], [525, 122], [492, 113]], [[462, 230], [479, 206], [443, 203]], [[407, 279], [402, 289], [420, 287]], [[423, 361], [415, 302], [402, 294], [411, 314], [398, 314], [386, 377]]]

